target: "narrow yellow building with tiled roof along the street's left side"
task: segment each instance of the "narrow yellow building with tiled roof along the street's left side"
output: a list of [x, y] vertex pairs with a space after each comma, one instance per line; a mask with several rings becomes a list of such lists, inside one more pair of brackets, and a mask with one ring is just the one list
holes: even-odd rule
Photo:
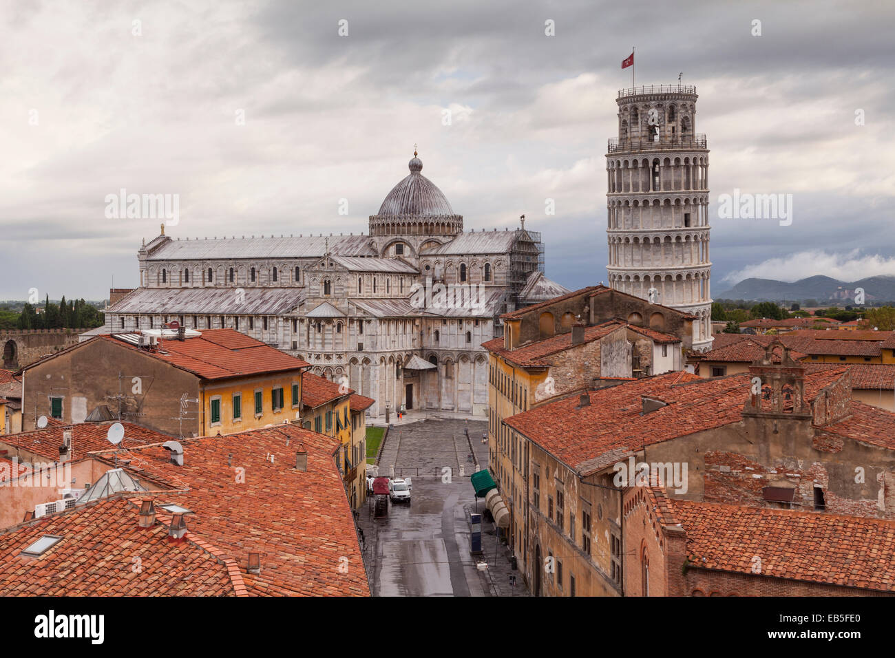
[[348, 500], [352, 508], [358, 508], [367, 500], [366, 430], [365, 425], [360, 431], [353, 429], [351, 398], [354, 390], [310, 372], [303, 373], [302, 383], [304, 428], [341, 441], [337, 466], [345, 480]]

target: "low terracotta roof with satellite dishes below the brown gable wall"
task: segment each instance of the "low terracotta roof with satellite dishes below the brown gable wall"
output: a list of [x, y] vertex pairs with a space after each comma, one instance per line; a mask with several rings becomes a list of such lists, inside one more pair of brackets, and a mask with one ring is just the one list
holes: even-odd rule
[[[41, 457], [47, 457], [49, 461], [59, 459], [59, 446], [63, 444], [63, 432], [72, 429], [72, 461], [87, 456], [90, 452], [108, 450], [111, 444], [106, 436], [109, 425], [112, 423], [79, 423], [77, 425], [65, 425], [56, 421], [43, 430], [32, 432], [19, 432], [17, 434], [0, 434], [0, 443], [13, 447], [30, 450]], [[122, 423], [124, 425], [124, 440], [121, 445], [124, 448], [145, 446], [150, 443], [163, 443], [172, 440], [173, 437], [149, 430], [135, 423]]]

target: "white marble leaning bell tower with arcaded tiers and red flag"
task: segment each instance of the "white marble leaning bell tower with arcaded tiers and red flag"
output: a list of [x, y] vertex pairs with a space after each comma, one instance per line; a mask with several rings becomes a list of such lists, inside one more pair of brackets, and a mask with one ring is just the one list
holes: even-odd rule
[[696, 88], [618, 92], [607, 160], [609, 286], [689, 312], [693, 348], [712, 346], [709, 150], [696, 129]]

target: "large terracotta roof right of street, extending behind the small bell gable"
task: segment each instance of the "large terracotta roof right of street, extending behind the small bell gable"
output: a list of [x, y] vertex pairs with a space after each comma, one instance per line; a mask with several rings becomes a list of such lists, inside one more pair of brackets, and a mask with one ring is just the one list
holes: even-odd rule
[[[823, 369], [805, 376], [805, 399], [846, 372]], [[669, 372], [588, 394], [589, 406], [567, 397], [507, 418], [524, 434], [579, 474], [611, 466], [632, 451], [661, 441], [703, 432], [742, 418], [749, 395], [749, 374], [706, 380], [689, 372]], [[643, 398], [666, 403], [642, 414]]]

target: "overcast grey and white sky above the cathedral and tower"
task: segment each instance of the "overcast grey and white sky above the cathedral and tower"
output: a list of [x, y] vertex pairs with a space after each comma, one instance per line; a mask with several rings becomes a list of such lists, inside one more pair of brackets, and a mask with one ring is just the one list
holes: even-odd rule
[[[700, 96], [713, 292], [748, 276], [895, 274], [891, 3], [0, 7], [0, 299], [136, 286], [159, 221], [107, 218], [122, 188], [179, 195], [174, 237], [366, 231], [414, 143], [467, 229], [524, 213], [548, 276], [596, 283], [632, 46], [637, 84], [683, 72]], [[792, 194], [791, 225], [719, 218], [735, 188]]]

